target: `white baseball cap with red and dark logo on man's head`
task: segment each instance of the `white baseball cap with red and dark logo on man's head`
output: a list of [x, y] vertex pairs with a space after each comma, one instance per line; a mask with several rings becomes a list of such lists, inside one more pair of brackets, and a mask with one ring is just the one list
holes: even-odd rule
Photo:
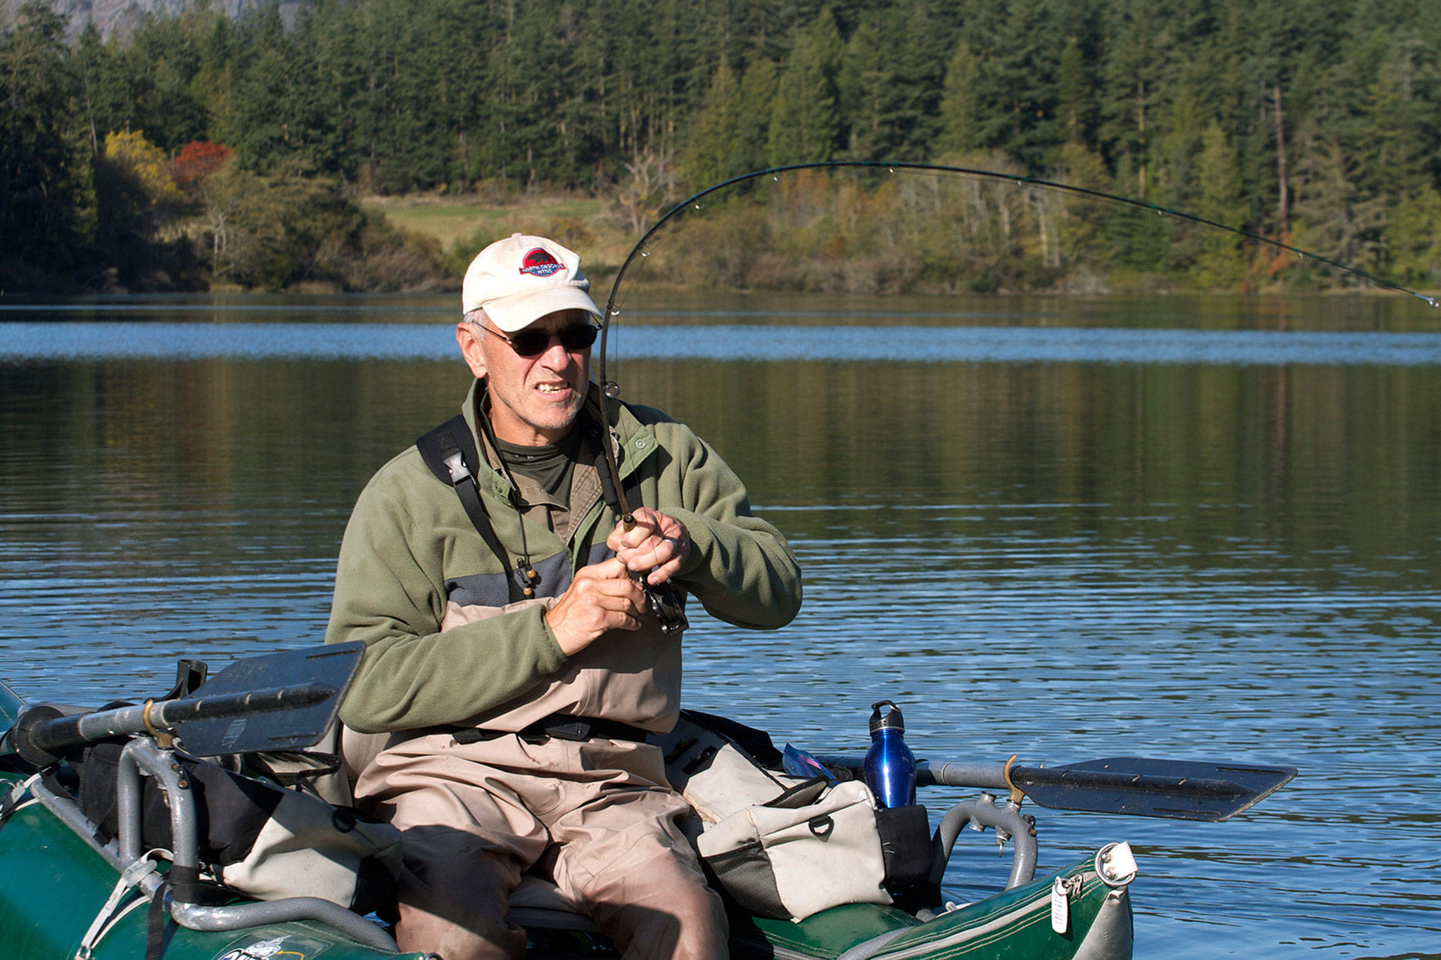
[[461, 309], [484, 309], [507, 334], [529, 327], [558, 309], [601, 311], [586, 291], [581, 258], [543, 236], [512, 233], [476, 255], [461, 286]]

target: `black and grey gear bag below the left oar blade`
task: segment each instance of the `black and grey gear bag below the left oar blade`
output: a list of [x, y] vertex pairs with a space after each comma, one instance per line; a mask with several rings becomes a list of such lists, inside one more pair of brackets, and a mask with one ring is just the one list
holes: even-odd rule
[[[120, 832], [115, 773], [122, 741], [86, 747], [79, 763], [79, 805], [104, 842]], [[176, 753], [195, 797], [202, 868], [255, 900], [321, 897], [366, 914], [395, 900], [401, 832], [350, 807], [301, 790], [232, 773]], [[171, 849], [164, 792], [143, 779], [141, 841]]]

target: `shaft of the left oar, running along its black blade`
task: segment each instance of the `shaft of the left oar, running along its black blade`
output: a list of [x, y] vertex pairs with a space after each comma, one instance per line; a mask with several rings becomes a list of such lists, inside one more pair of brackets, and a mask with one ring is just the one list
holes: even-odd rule
[[[336, 688], [329, 684], [294, 684], [269, 689], [219, 694], [216, 697], [192, 697], [167, 699], [157, 704], [118, 707], [75, 717], [58, 717], [40, 723], [30, 731], [30, 741], [40, 750], [53, 751], [76, 743], [94, 743], [107, 737], [141, 733], [169, 733], [179, 724], [192, 720], [216, 720], [265, 714], [278, 710], [303, 710], [334, 697]], [[148, 725], [147, 717], [148, 715]]]

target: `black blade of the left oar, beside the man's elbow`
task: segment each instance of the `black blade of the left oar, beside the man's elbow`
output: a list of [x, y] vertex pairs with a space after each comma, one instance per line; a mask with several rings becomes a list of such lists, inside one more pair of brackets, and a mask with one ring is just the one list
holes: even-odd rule
[[363, 652], [365, 643], [334, 643], [236, 661], [193, 697], [203, 699], [293, 684], [330, 687], [334, 695], [301, 708], [192, 720], [179, 727], [176, 740], [199, 757], [313, 747], [334, 721]]

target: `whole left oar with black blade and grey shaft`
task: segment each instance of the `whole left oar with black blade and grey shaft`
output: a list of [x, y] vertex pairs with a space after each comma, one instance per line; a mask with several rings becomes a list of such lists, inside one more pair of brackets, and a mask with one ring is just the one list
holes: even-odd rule
[[131, 734], [173, 734], [195, 756], [314, 746], [330, 728], [365, 643], [336, 643], [236, 661], [190, 697], [65, 715], [30, 707], [7, 735], [23, 760], [55, 763], [58, 750]]

